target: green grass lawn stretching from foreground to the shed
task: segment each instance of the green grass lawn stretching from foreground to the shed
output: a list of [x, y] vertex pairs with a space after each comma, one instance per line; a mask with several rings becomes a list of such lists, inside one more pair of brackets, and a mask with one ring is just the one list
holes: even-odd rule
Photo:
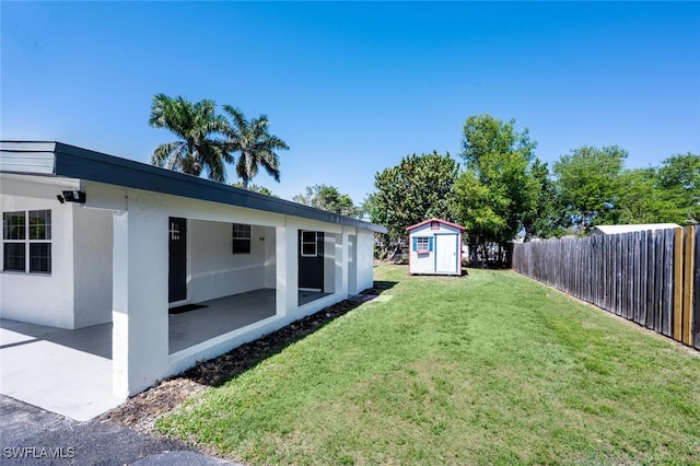
[[700, 358], [509, 271], [409, 277], [158, 428], [250, 464], [700, 464]]

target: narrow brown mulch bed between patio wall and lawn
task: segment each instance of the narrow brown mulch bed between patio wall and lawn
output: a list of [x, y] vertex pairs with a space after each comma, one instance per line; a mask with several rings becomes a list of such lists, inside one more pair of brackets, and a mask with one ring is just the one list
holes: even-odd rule
[[347, 314], [361, 303], [376, 298], [382, 291], [384, 291], [383, 288], [364, 290], [358, 296], [341, 301], [255, 341], [234, 348], [225, 354], [201, 362], [178, 375], [163, 380], [105, 412], [100, 420], [117, 422], [140, 432], [152, 433], [155, 420], [179, 407], [187, 398], [203, 392], [208, 386], [221, 385], [247, 371], [287, 346]]

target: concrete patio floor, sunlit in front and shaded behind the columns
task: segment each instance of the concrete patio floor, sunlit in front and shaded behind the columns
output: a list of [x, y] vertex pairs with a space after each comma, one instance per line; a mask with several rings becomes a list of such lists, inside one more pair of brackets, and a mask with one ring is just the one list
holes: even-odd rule
[[[329, 293], [299, 291], [303, 306]], [[168, 314], [170, 354], [275, 317], [262, 289]], [[112, 323], [75, 330], [0, 319], [0, 394], [79, 421], [120, 405], [113, 395]]]

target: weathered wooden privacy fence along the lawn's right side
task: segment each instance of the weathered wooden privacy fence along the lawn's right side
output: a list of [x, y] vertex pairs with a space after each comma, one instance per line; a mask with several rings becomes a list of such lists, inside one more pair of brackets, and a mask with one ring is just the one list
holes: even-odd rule
[[516, 243], [513, 269], [700, 350], [699, 229]]

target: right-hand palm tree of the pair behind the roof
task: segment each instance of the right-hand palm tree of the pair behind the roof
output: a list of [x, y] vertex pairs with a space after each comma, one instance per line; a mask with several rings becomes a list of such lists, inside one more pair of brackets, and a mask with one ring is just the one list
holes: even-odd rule
[[280, 159], [275, 151], [289, 149], [289, 145], [268, 132], [267, 116], [260, 115], [248, 121], [240, 109], [231, 105], [224, 105], [223, 109], [233, 121], [226, 132], [228, 150], [241, 152], [236, 163], [236, 175], [243, 180], [243, 189], [248, 188], [248, 182], [257, 175], [259, 165], [262, 165], [265, 171], [279, 183]]

